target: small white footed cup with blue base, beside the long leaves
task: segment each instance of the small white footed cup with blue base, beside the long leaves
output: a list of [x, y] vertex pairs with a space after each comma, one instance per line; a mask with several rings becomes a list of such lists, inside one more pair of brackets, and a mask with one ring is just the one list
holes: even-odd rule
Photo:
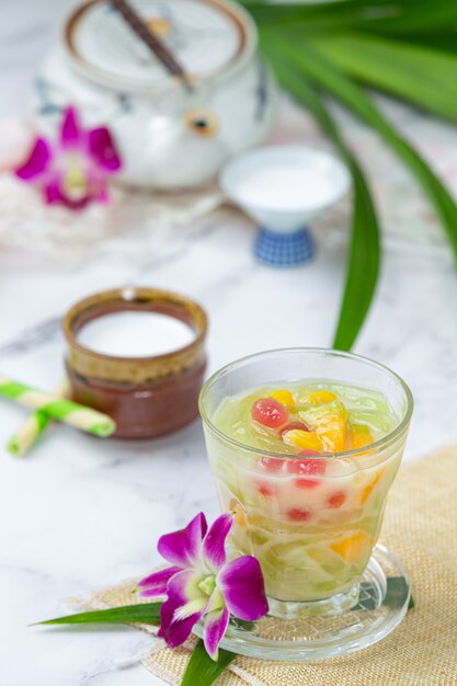
[[347, 192], [350, 175], [329, 152], [305, 146], [272, 146], [227, 162], [219, 183], [260, 226], [254, 247], [258, 260], [272, 266], [294, 266], [313, 255], [306, 222]]

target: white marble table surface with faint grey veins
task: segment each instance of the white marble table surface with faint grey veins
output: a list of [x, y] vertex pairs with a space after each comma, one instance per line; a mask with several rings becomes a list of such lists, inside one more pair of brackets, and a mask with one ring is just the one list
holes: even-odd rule
[[[55, 3], [41, 2], [39, 16], [28, 7], [38, 33], [42, 21], [46, 27], [56, 21]], [[20, 12], [11, 8], [11, 36], [15, 31], [25, 46], [28, 34], [19, 30]], [[0, 115], [25, 106], [33, 61], [44, 46], [36, 41], [39, 46], [26, 55], [18, 50], [15, 78], [1, 44], [0, 83], [14, 89]], [[13, 44], [11, 38], [12, 50]], [[202, 302], [210, 319], [208, 371], [260, 350], [330, 345], [344, 277], [341, 245], [318, 236], [312, 264], [272, 271], [253, 262], [252, 240], [248, 221], [226, 216], [165, 260], [151, 254], [141, 266], [118, 256], [70, 268], [0, 252], [2, 373], [52, 388], [62, 375], [58, 320], [65, 310], [91, 291], [129, 284], [181, 290]], [[457, 438], [456, 302], [450, 260], [387, 252], [355, 352], [389, 365], [412, 388], [415, 413], [405, 460]], [[13, 459], [3, 445], [24, 416], [21, 408], [0, 403], [0, 682], [161, 684], [139, 665], [119, 668], [147, 648], [150, 639], [140, 632], [27, 625], [67, 611], [66, 598], [147, 573], [159, 561], [160, 533], [198, 510], [216, 515], [199, 422], [141, 443], [101, 442], [53, 427], [30, 457]]]

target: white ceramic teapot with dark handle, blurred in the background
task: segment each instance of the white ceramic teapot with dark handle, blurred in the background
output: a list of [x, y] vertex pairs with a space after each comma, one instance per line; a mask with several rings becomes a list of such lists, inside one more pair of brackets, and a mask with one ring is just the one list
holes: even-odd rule
[[194, 83], [170, 77], [105, 0], [69, 18], [42, 66], [35, 110], [52, 133], [72, 103], [84, 126], [106, 125], [123, 158], [119, 180], [178, 190], [212, 180], [221, 164], [265, 139], [276, 88], [256, 55], [249, 14], [227, 0], [133, 0]]

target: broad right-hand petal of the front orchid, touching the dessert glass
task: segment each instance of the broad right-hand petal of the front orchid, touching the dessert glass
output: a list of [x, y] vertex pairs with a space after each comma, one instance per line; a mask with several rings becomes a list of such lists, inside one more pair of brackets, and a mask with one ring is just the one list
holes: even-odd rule
[[254, 621], [269, 611], [262, 570], [253, 556], [245, 554], [226, 564], [216, 584], [236, 617]]

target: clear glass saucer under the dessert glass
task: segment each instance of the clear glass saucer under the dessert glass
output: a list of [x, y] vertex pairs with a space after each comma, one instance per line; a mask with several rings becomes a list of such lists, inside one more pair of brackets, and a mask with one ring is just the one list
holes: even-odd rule
[[[220, 648], [249, 658], [288, 662], [345, 655], [393, 631], [408, 610], [410, 595], [403, 567], [390, 550], [378, 545], [361, 578], [358, 602], [351, 609], [297, 619], [232, 619]], [[194, 631], [202, 637], [202, 625]]]

